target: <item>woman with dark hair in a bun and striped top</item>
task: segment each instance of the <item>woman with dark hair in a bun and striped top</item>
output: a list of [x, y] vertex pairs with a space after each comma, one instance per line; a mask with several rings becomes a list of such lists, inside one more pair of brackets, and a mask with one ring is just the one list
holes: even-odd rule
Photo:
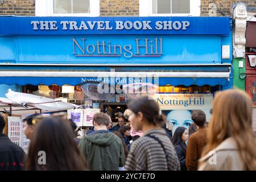
[[166, 119], [159, 115], [153, 98], [139, 97], [128, 104], [129, 121], [134, 130], [143, 132], [131, 145], [125, 169], [128, 171], [179, 170], [180, 163], [166, 131], [159, 129]]

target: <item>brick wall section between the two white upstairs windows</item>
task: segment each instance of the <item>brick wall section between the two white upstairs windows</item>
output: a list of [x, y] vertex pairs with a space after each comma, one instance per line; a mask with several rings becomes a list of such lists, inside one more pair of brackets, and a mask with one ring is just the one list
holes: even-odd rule
[[101, 0], [101, 16], [139, 16], [139, 0]]

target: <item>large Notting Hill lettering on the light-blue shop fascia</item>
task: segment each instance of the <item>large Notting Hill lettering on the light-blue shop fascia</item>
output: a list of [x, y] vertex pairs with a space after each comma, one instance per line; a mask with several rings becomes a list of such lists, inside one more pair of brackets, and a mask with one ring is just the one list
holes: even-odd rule
[[[163, 55], [163, 39], [134, 39], [133, 44], [112, 44], [111, 41], [100, 40], [87, 44], [88, 39], [72, 38], [73, 55], [77, 57], [160, 57]], [[135, 46], [134, 46], [135, 45]]]

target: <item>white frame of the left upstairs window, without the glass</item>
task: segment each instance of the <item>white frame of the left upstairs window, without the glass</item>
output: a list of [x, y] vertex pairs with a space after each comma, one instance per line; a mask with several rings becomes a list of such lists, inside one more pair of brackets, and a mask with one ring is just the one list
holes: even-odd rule
[[53, 0], [36, 0], [36, 16], [100, 16], [100, 0], [90, 1], [90, 13], [53, 13]]

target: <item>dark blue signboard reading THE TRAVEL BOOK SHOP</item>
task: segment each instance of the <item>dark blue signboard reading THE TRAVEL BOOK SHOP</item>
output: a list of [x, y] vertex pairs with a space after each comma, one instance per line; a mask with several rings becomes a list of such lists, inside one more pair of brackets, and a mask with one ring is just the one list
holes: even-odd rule
[[1, 35], [229, 35], [229, 17], [3, 16]]

